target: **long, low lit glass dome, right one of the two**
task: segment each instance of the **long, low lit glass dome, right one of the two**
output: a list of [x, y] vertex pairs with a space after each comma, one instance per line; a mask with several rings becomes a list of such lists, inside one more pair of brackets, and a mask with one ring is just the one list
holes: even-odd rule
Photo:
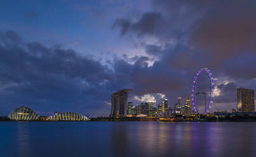
[[74, 112], [57, 113], [53, 116], [49, 116], [48, 120], [59, 121], [87, 121], [90, 120], [84, 115]]

